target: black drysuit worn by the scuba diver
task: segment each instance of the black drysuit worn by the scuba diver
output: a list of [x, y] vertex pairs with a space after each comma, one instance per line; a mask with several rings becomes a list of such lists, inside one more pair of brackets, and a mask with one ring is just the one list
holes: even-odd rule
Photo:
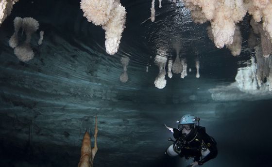
[[[216, 141], [206, 134], [205, 127], [196, 126], [188, 135], [182, 134], [179, 129], [174, 128], [173, 131], [173, 136], [176, 139], [175, 144], [179, 146], [181, 157], [194, 157], [194, 161], [202, 165], [217, 156]], [[209, 149], [210, 152], [202, 158], [201, 151], [205, 149]]]

